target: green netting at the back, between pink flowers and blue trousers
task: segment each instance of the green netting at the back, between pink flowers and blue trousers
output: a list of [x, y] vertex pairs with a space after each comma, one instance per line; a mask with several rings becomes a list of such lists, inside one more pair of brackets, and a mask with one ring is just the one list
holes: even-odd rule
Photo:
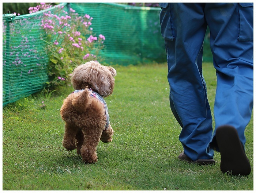
[[166, 60], [159, 27], [160, 8], [115, 3], [71, 3], [80, 15], [93, 17], [93, 31], [103, 34], [107, 63], [120, 65]]

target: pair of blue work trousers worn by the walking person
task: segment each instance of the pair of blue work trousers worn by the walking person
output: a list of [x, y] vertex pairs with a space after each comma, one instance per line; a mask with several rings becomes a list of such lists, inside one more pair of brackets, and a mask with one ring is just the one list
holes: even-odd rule
[[159, 3], [170, 85], [170, 107], [182, 127], [180, 142], [193, 161], [219, 151], [202, 73], [207, 25], [217, 75], [215, 128], [230, 125], [245, 144], [253, 108], [253, 3]]

